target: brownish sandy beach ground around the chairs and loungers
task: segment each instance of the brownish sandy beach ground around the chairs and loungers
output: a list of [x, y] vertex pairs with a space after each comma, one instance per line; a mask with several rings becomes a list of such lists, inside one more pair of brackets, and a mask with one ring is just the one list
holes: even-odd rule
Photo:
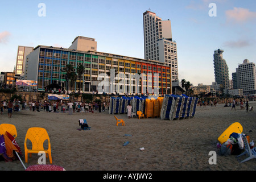
[[[256, 109], [256, 101], [249, 102]], [[115, 115], [124, 119], [125, 126], [116, 126], [114, 115], [98, 113], [47, 113], [21, 110], [8, 118], [7, 110], [0, 123], [16, 126], [16, 138], [23, 152], [26, 167], [38, 162], [32, 154], [25, 163], [24, 139], [30, 127], [43, 127], [51, 140], [52, 161], [67, 171], [255, 171], [255, 159], [240, 164], [236, 155], [220, 156], [217, 138], [234, 122], [240, 122], [243, 133], [256, 142], [256, 111], [231, 110], [197, 106], [194, 118], [174, 121], [160, 118], [138, 119], [127, 114]], [[91, 130], [79, 131], [79, 119], [86, 119]], [[133, 135], [125, 137], [125, 134]], [[127, 146], [123, 143], [129, 141]], [[141, 151], [140, 148], [144, 147]], [[209, 152], [217, 152], [217, 164], [209, 164]], [[49, 160], [46, 160], [49, 164]], [[19, 160], [0, 162], [0, 171], [24, 171]]]

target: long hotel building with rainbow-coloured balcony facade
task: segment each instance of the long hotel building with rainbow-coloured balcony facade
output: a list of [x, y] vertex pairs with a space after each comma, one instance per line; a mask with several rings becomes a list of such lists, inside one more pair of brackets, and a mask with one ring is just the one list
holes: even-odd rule
[[[114, 90], [115, 92], [147, 94], [148, 87], [153, 89], [156, 86], [155, 73], [158, 73], [159, 76], [159, 94], [172, 93], [171, 68], [166, 64], [159, 61], [97, 52], [97, 42], [92, 38], [82, 36], [77, 36], [68, 49], [52, 46], [35, 47], [26, 57], [26, 71], [23, 79], [38, 81], [39, 91], [43, 91], [46, 86], [53, 83], [66, 88], [64, 68], [67, 64], [73, 65], [75, 70], [81, 64], [85, 67], [85, 73], [81, 77], [81, 92], [84, 93], [98, 90], [98, 84], [102, 80], [114, 76], [114, 85], [117, 88]], [[111, 75], [113, 71], [114, 75]], [[135, 73], [138, 75], [143, 73], [139, 82], [133, 77]], [[122, 74], [125, 81], [122, 81]], [[80, 79], [77, 78], [69, 90], [78, 92], [79, 83]], [[112, 94], [113, 90], [108, 89], [104, 92]]]

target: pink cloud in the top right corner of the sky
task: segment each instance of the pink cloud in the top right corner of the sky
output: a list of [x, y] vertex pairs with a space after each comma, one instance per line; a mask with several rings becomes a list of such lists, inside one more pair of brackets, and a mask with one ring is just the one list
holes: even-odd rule
[[256, 19], [256, 12], [244, 9], [242, 7], [234, 7], [233, 10], [226, 10], [227, 20], [233, 20], [234, 22], [243, 23], [248, 20]]

